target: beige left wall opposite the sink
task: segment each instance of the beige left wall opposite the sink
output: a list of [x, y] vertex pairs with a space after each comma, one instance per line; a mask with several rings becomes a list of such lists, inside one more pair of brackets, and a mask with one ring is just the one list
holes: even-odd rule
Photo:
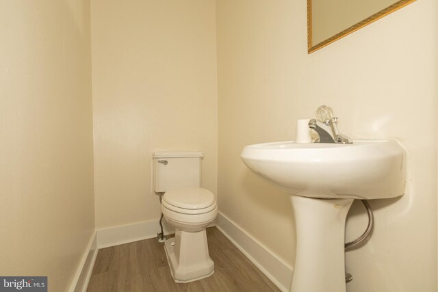
[[90, 4], [0, 6], [0, 275], [66, 291], [94, 230]]

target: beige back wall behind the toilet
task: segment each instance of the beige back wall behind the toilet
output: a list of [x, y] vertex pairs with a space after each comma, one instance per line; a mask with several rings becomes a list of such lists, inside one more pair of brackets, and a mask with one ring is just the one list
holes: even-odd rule
[[156, 150], [203, 150], [216, 194], [213, 0], [92, 1], [96, 227], [156, 220]]

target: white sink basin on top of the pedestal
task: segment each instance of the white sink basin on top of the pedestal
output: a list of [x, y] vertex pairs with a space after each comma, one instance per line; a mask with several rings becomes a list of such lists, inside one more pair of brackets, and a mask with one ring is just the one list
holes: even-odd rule
[[241, 156], [250, 170], [296, 196], [368, 200], [404, 194], [405, 152], [394, 140], [264, 143], [246, 146]]

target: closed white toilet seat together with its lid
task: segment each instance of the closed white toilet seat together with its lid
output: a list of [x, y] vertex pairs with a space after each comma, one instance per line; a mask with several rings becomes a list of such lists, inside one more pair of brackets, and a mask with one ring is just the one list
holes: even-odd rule
[[208, 189], [187, 187], [166, 191], [162, 206], [177, 213], [196, 215], [213, 211], [217, 203], [214, 194]]

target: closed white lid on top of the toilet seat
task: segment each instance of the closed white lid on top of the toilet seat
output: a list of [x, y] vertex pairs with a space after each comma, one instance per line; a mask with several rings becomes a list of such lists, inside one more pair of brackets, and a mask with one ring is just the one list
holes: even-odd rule
[[166, 191], [163, 196], [164, 202], [182, 209], [205, 209], [210, 207], [216, 198], [208, 189], [201, 187], [186, 187]]

